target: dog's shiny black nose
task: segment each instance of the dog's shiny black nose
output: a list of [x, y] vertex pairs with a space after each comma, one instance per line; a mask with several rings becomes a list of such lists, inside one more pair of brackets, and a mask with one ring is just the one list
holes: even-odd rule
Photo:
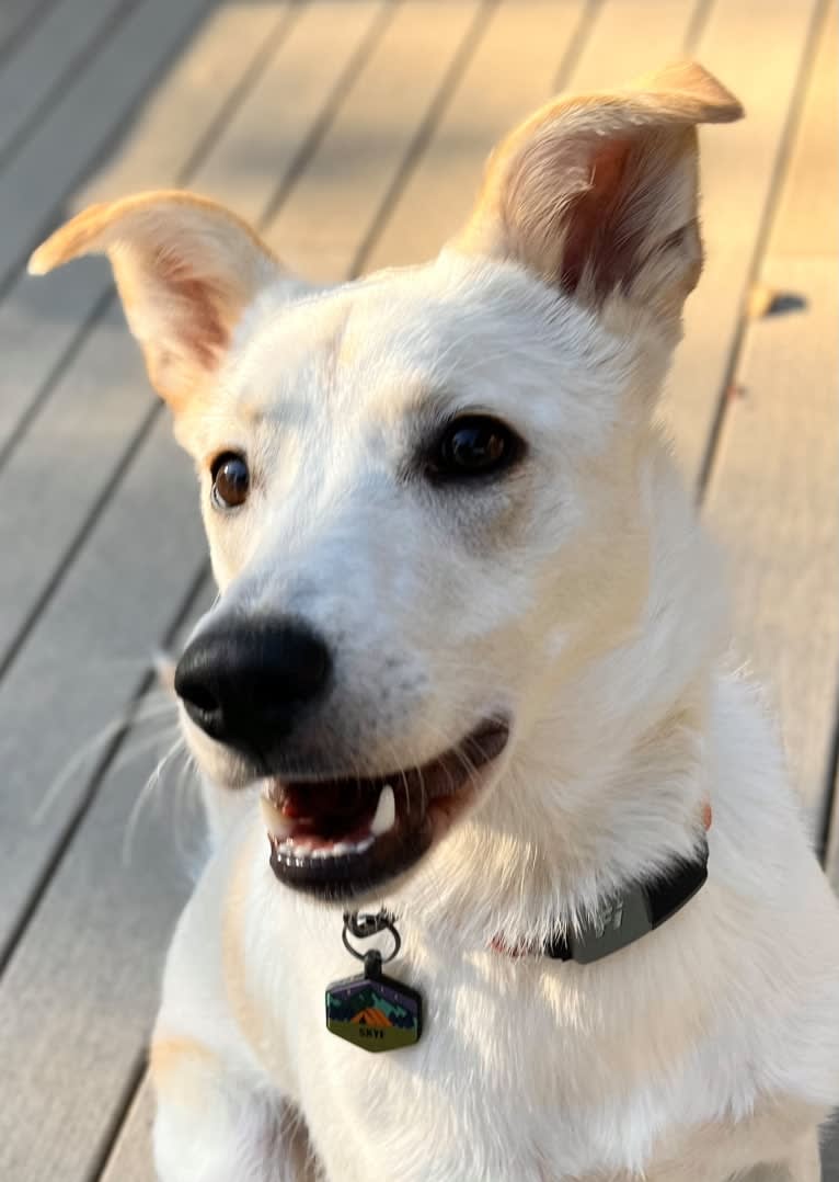
[[297, 621], [242, 618], [186, 647], [175, 689], [208, 735], [264, 760], [323, 695], [330, 669], [323, 641]]

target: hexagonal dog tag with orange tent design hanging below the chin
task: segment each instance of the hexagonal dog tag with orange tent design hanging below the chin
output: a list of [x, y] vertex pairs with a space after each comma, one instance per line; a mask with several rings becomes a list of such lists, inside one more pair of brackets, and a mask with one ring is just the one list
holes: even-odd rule
[[365, 954], [360, 976], [335, 981], [326, 992], [327, 1030], [362, 1051], [399, 1051], [422, 1033], [422, 998], [385, 976], [381, 954]]

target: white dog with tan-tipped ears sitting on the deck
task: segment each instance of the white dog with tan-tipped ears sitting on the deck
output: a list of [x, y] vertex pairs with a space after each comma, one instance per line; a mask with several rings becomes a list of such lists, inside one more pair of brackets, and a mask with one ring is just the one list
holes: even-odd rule
[[334, 287], [185, 193], [33, 255], [110, 256], [221, 590], [164, 1182], [819, 1177], [839, 908], [654, 420], [741, 115], [693, 63], [559, 98], [433, 262]]

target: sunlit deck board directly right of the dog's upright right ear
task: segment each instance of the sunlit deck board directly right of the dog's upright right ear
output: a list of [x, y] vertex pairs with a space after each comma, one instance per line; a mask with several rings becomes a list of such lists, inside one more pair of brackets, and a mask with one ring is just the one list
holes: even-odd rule
[[664, 408], [676, 455], [691, 482], [702, 475], [739, 338], [817, 5], [818, 0], [717, 4], [696, 46], [699, 60], [735, 91], [747, 118], [703, 128], [700, 135], [706, 265], [686, 306], [684, 340]]

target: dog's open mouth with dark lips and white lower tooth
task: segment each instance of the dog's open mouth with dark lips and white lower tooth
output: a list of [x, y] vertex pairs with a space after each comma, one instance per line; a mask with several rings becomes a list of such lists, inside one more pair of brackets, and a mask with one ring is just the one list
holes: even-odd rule
[[509, 738], [509, 723], [492, 719], [421, 767], [372, 779], [266, 780], [274, 873], [326, 898], [401, 873], [474, 798]]

